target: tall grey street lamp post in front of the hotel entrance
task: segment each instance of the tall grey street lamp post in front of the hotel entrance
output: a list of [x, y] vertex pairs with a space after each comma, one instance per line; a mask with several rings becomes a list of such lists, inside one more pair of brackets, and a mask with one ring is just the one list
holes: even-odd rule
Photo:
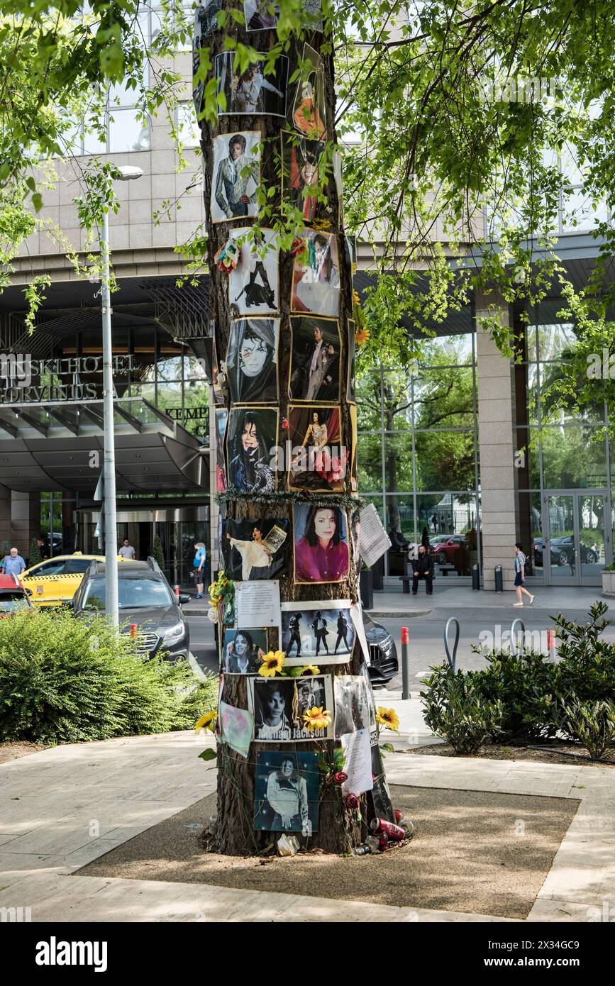
[[[118, 178], [130, 181], [141, 177], [140, 168], [123, 167]], [[108, 209], [102, 220], [102, 417], [104, 423], [104, 611], [113, 626], [119, 626], [117, 599], [117, 522], [115, 512], [115, 439], [113, 435], [113, 346], [111, 341], [110, 248]]]

